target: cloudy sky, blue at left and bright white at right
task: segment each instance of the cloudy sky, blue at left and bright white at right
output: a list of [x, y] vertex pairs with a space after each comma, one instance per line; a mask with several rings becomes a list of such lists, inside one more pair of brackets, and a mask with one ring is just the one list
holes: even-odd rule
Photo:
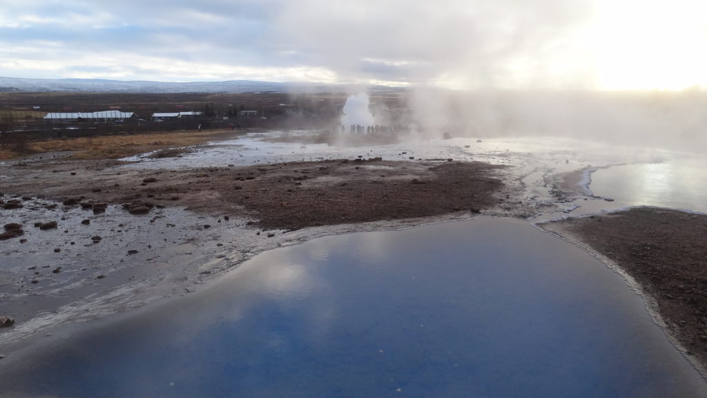
[[1, 0], [0, 76], [707, 89], [703, 0]]

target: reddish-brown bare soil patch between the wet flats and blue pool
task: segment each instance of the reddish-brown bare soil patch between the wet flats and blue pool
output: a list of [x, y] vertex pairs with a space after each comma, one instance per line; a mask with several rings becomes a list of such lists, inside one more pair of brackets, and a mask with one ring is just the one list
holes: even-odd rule
[[[328, 160], [185, 171], [126, 171], [110, 161], [25, 166], [6, 193], [127, 210], [184, 206], [299, 229], [473, 212], [503, 201], [502, 166], [471, 162]], [[40, 169], [41, 168], [41, 169]]]

